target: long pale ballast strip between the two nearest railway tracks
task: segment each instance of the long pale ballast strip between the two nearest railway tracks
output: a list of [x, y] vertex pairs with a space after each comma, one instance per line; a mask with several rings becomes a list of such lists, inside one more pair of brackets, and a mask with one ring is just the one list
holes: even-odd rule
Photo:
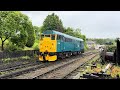
[[[86, 53], [83, 55], [83, 57], [79, 57], [77, 59], [73, 59], [73, 60], [68, 60], [66, 62], [60, 62], [59, 64], [52, 64], [48, 67], [44, 67], [44, 68], [41, 68], [41, 69], [38, 69], [34, 72], [31, 72], [31, 73], [28, 73], [28, 74], [25, 74], [25, 75], [21, 75], [21, 76], [18, 76], [18, 77], [14, 77], [13, 79], [37, 79], [37, 78], [41, 78], [41, 76], [44, 76], [46, 74], [48, 74], [49, 72], [52, 72], [52, 71], [55, 71], [57, 70], [58, 68], [61, 67], [64, 67], [66, 65], [70, 65], [74, 62], [78, 63], [77, 60], [80, 59], [80, 58], [84, 58], [86, 55], [91, 55], [92, 53]], [[64, 69], [62, 69], [64, 70]], [[55, 78], [55, 77], [54, 77]]]

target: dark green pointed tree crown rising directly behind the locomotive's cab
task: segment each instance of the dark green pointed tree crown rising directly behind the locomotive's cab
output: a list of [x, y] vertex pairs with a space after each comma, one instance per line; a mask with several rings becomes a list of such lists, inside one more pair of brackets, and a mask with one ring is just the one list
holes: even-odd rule
[[41, 28], [42, 32], [45, 30], [56, 30], [59, 32], [63, 32], [63, 24], [57, 15], [52, 13], [48, 15], [43, 22], [43, 26]]

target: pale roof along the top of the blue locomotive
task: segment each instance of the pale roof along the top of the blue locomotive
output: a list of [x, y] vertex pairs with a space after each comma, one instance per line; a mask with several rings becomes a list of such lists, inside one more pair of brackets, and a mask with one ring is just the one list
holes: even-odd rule
[[76, 38], [76, 37], [73, 37], [73, 36], [70, 36], [70, 35], [67, 35], [67, 34], [64, 34], [64, 33], [58, 32], [58, 31], [55, 31], [55, 30], [46, 30], [46, 31], [43, 32], [43, 34], [58, 34], [58, 35], [63, 35], [65, 37], [67, 37], [67, 38], [83, 41], [83, 39]]

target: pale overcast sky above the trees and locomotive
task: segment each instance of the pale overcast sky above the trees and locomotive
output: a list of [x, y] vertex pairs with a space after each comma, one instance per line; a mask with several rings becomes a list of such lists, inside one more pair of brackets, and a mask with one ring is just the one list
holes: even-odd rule
[[55, 13], [65, 27], [81, 28], [87, 38], [120, 37], [120, 11], [22, 11], [33, 25], [42, 26], [48, 14]]

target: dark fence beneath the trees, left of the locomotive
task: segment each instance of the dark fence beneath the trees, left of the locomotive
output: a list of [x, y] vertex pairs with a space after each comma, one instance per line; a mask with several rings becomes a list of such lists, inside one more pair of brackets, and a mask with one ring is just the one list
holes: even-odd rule
[[15, 51], [15, 52], [0, 52], [0, 60], [5, 58], [18, 58], [22, 56], [34, 57], [38, 55], [38, 50], [26, 50], [26, 51]]

